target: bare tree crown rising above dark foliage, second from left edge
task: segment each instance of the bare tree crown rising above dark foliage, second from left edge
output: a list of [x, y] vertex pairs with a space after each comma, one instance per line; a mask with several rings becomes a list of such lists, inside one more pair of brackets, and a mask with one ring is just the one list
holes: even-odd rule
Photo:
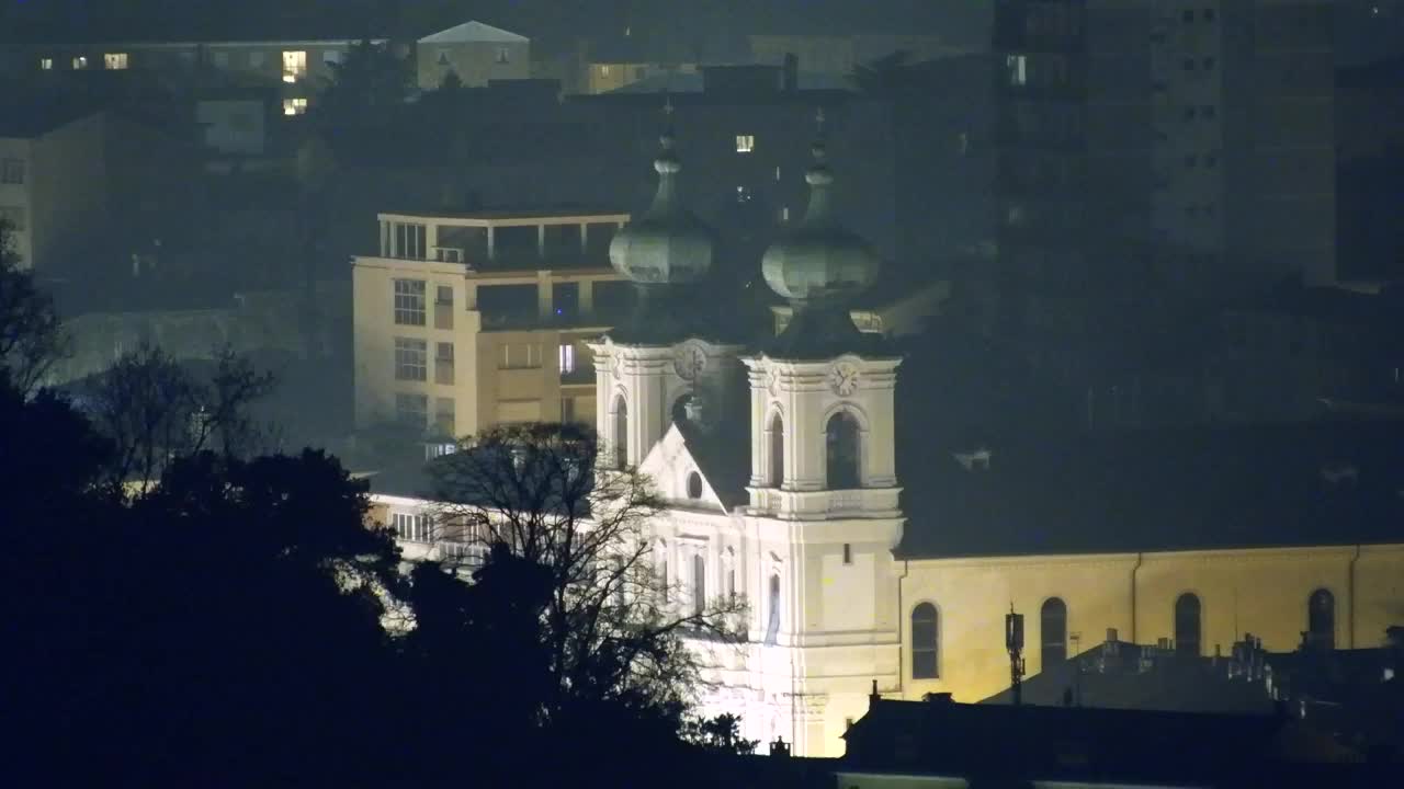
[[272, 375], [227, 348], [215, 357], [205, 382], [159, 347], [142, 345], [93, 383], [93, 423], [114, 445], [104, 480], [114, 494], [147, 493], [176, 458], [206, 449], [249, 458], [268, 449], [249, 409], [272, 390]]

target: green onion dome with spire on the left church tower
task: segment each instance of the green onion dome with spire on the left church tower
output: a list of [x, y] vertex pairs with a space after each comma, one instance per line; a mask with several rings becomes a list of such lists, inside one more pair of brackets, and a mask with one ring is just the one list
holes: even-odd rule
[[653, 161], [658, 171], [653, 205], [609, 241], [609, 263], [640, 285], [689, 285], [712, 268], [715, 233], [678, 199], [682, 163], [673, 152], [673, 131], [665, 131], [660, 142], [663, 150]]

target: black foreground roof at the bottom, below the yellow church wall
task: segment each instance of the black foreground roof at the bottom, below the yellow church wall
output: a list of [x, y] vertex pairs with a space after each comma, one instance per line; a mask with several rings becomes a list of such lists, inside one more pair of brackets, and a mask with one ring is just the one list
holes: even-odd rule
[[873, 699], [842, 771], [1202, 785], [1268, 761], [1278, 716]]

